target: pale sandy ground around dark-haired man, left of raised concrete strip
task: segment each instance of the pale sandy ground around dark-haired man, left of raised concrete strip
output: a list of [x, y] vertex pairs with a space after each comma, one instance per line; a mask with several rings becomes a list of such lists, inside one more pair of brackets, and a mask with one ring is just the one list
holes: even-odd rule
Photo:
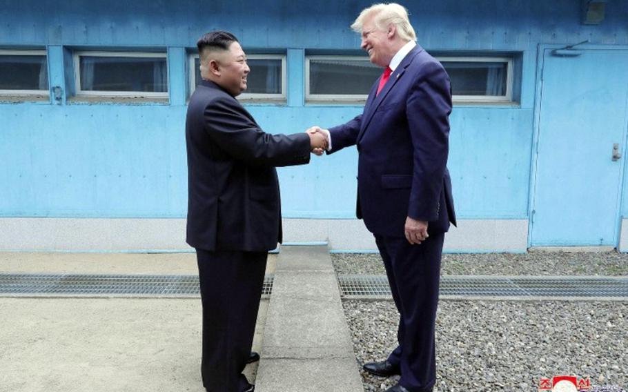
[[[198, 271], [193, 253], [0, 253], [0, 273]], [[267, 308], [263, 300], [256, 351]], [[0, 297], [0, 392], [204, 392], [201, 316], [199, 297]], [[249, 380], [257, 366], [246, 366]]]

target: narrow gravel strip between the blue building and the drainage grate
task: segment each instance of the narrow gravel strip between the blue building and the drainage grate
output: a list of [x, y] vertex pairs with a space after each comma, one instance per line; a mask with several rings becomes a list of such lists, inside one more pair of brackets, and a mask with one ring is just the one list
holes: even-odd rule
[[[383, 275], [377, 253], [333, 253], [339, 275]], [[628, 254], [532, 252], [449, 253], [442, 255], [442, 275], [628, 275]]]

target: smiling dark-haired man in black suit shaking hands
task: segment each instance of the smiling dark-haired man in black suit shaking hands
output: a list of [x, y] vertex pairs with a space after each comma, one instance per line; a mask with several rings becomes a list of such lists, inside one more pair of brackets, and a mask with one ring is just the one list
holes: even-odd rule
[[320, 133], [271, 135], [235, 99], [250, 71], [237, 39], [199, 39], [202, 81], [190, 98], [187, 242], [196, 248], [203, 304], [202, 378], [208, 392], [253, 391], [250, 355], [266, 256], [282, 241], [275, 166], [307, 164]]

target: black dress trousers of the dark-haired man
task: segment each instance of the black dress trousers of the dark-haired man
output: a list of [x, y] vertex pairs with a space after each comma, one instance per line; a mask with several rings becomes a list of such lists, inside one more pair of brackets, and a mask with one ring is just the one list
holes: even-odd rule
[[251, 353], [267, 252], [197, 248], [203, 304], [201, 374], [208, 392], [248, 389], [242, 374]]

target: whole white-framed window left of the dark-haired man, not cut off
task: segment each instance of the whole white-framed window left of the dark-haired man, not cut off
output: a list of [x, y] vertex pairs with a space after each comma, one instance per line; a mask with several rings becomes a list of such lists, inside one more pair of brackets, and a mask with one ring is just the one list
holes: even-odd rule
[[166, 53], [77, 52], [77, 95], [168, 98]]

